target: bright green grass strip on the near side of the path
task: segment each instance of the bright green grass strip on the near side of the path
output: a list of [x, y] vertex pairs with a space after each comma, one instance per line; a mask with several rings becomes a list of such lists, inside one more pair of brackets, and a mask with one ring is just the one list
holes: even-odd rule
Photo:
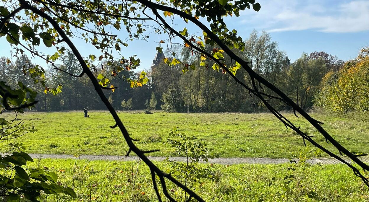
[[[76, 166], [75, 166], [76, 163]], [[37, 167], [37, 160], [29, 164]], [[155, 162], [164, 171], [168, 165]], [[42, 159], [39, 167], [49, 169], [58, 174], [58, 181], [64, 186], [72, 187], [78, 196], [59, 194], [50, 195], [48, 202], [69, 201], [158, 201], [152, 188], [151, 175], [142, 161], [90, 161], [87, 160], [53, 160]], [[201, 178], [192, 189], [206, 201], [363, 201], [368, 200], [368, 189], [358, 177], [355, 177], [347, 166], [296, 165], [295, 171], [287, 170], [291, 164], [262, 165], [238, 164], [232, 166], [213, 165], [211, 170], [219, 181]], [[138, 168], [138, 169], [137, 169]], [[289, 188], [283, 190], [283, 179], [286, 175], [294, 175]], [[269, 182], [276, 180], [269, 186]], [[159, 181], [158, 179], [156, 180]], [[158, 184], [160, 187], [160, 184]], [[168, 183], [171, 194], [180, 195], [180, 189]], [[310, 199], [310, 191], [317, 193], [317, 199]], [[160, 192], [162, 193], [161, 189]], [[45, 196], [42, 196], [43, 198]], [[41, 201], [46, 201], [45, 198]]]

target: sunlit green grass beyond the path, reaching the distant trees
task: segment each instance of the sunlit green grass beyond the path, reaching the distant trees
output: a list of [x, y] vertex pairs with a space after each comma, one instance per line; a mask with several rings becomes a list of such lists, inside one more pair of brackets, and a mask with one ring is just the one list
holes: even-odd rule
[[[114, 125], [111, 115], [106, 111], [89, 114], [91, 118], [83, 118], [82, 111], [27, 112], [20, 118], [34, 125], [38, 132], [28, 133], [16, 141], [28, 146], [28, 153], [124, 155], [128, 147], [118, 128], [109, 127]], [[221, 157], [296, 158], [304, 148], [301, 137], [270, 114], [120, 112], [119, 116], [131, 136], [140, 140], [136, 143], [139, 148], [161, 149], [151, 153], [152, 156], [173, 156], [166, 144], [173, 127], [206, 142], [208, 148]], [[304, 119], [293, 114], [286, 116], [308, 135], [315, 135], [315, 141], [338, 153]], [[348, 150], [369, 152], [369, 122], [318, 114], [313, 117], [323, 121], [324, 129]], [[4, 144], [0, 144], [3, 150]]]

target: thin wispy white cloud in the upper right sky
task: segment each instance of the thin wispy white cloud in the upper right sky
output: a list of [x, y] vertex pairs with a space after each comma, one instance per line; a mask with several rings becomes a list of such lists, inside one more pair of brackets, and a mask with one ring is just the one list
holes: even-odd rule
[[[359, 32], [369, 30], [369, 1], [263, 1], [259, 13], [243, 12], [251, 24], [268, 32], [315, 30]], [[241, 15], [242, 16], [242, 15]]]

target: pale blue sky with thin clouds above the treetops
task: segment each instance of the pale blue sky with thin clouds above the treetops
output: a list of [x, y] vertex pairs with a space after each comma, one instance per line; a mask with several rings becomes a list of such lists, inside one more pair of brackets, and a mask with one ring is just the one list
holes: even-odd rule
[[[260, 32], [265, 30], [292, 61], [299, 58], [303, 52], [314, 51], [324, 51], [336, 55], [339, 59], [349, 60], [356, 58], [361, 48], [369, 46], [369, 0], [257, 2], [261, 4], [259, 12], [246, 9], [239, 17], [226, 17], [224, 20], [228, 29], [236, 29], [243, 39], [247, 39], [253, 29]], [[187, 27], [189, 33], [199, 31], [193, 25], [185, 24], [183, 20], [175, 20], [175, 23], [176, 30]], [[123, 33], [124, 30], [120, 32]], [[152, 34], [148, 41], [130, 42], [121, 52], [127, 57], [137, 55], [141, 60], [138, 71], [149, 69], [156, 54], [156, 46], [162, 39], [166, 39], [165, 35]], [[72, 41], [83, 56], [101, 55], [84, 41]], [[166, 44], [162, 46], [165, 48]], [[40, 47], [40, 50], [50, 54], [55, 52], [43, 47]], [[10, 48], [5, 37], [0, 38], [0, 56], [10, 57]], [[41, 59], [32, 59], [32, 62], [46, 66]]]

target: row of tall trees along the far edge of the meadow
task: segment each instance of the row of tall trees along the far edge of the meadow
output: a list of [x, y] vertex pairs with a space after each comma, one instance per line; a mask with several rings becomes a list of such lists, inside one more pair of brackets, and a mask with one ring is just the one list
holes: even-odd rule
[[[348, 110], [368, 110], [368, 92], [366, 89], [368, 75], [367, 60], [363, 49], [358, 59], [344, 62], [336, 56], [325, 52], [303, 53], [296, 61], [291, 62], [285, 52], [278, 48], [265, 31], [253, 31], [244, 41], [245, 50], [234, 50], [242, 59], [249, 61], [255, 72], [280, 88], [301, 108], [324, 108], [344, 112]], [[217, 48], [206, 46], [209, 53]], [[173, 54], [177, 53], [177, 54]], [[116, 67], [106, 60], [94, 68], [96, 77], [99, 74], [110, 75], [110, 83], [117, 87], [115, 91], [105, 92], [109, 101], [117, 109], [163, 109], [167, 112], [262, 112], [267, 109], [262, 102], [251, 96], [249, 92], [224, 74], [222, 69], [211, 65], [200, 67], [201, 55], [190, 49], [173, 45], [165, 52], [167, 58], [160, 58], [158, 65], [148, 71], [149, 82], [139, 88], [131, 88], [126, 78], [137, 79], [139, 73], [133, 71], [115, 72]], [[168, 66], [165, 60], [178, 59], [196, 68], [183, 67], [178, 63]], [[231, 59], [224, 54], [224, 64], [231, 66]], [[60, 58], [59, 69], [71, 74], [79, 74], [82, 69], [77, 59], [69, 50]], [[115, 64], [115, 63], [113, 63]], [[35, 67], [30, 59], [23, 55], [12, 62], [6, 57], [0, 58], [0, 76], [10, 86], [17, 86], [18, 81], [44, 91], [41, 85], [35, 84], [24, 68]], [[185, 73], [184, 73], [185, 72]], [[237, 79], [251, 86], [251, 79], [243, 69], [235, 74]], [[49, 66], [45, 73], [49, 86], [62, 85], [62, 92], [56, 96], [38, 94], [36, 109], [39, 111], [104, 109], [101, 100], [94, 93], [92, 84], [86, 76], [73, 77]], [[352, 85], [351, 89], [346, 88]], [[357, 86], [361, 86], [357, 88]], [[263, 93], [273, 94], [269, 89], [261, 88]], [[350, 94], [351, 93], [351, 94]], [[350, 95], [349, 95], [350, 94]], [[342, 96], [346, 96], [343, 99]], [[345, 101], [346, 100], [346, 101]], [[278, 110], [288, 110], [283, 102], [270, 100]], [[344, 102], [344, 103], [342, 103]], [[359, 104], [360, 107], [357, 107]], [[355, 107], [356, 106], [356, 107]]]

